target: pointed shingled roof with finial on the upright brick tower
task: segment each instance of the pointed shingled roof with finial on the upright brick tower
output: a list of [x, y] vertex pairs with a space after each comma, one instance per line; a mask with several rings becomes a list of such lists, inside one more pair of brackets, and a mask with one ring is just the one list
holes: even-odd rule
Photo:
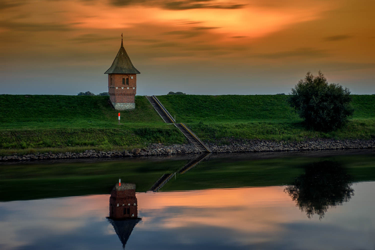
[[139, 74], [139, 72], [130, 61], [129, 55], [127, 55], [124, 45], [121, 39], [121, 47], [113, 60], [113, 63], [105, 74]]

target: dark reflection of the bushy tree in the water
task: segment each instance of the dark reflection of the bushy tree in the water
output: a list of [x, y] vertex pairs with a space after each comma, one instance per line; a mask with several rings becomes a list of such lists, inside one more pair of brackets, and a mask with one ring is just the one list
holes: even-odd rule
[[305, 167], [305, 174], [287, 186], [285, 192], [309, 219], [314, 214], [324, 217], [329, 207], [347, 202], [354, 195], [350, 176], [338, 162], [315, 162]]

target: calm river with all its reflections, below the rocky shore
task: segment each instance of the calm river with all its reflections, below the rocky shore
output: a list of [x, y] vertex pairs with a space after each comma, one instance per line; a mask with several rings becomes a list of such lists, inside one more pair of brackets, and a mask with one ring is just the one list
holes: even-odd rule
[[0, 249], [374, 249], [374, 150], [195, 157], [1, 165]]

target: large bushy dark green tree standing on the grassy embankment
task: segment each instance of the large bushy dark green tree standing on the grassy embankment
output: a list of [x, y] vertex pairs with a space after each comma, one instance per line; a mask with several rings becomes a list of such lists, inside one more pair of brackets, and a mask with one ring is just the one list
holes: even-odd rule
[[328, 84], [321, 71], [317, 76], [308, 72], [291, 89], [289, 104], [305, 120], [307, 127], [329, 131], [343, 126], [353, 114], [348, 88]]

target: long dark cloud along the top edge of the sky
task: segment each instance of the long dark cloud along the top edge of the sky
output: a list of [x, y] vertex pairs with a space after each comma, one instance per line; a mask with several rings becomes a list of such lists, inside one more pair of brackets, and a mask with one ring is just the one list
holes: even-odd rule
[[143, 5], [149, 7], [160, 7], [169, 10], [184, 9], [240, 9], [245, 4], [222, 3], [216, 4], [213, 0], [111, 0], [114, 6]]

